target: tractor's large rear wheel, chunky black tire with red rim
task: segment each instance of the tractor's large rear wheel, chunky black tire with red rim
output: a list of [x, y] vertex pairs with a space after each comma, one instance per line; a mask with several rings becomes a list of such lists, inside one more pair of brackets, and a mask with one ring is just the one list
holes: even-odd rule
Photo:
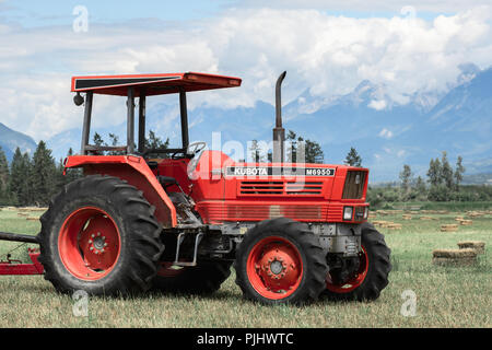
[[39, 261], [57, 291], [92, 295], [145, 291], [164, 249], [142, 192], [117, 177], [67, 185], [40, 218]]

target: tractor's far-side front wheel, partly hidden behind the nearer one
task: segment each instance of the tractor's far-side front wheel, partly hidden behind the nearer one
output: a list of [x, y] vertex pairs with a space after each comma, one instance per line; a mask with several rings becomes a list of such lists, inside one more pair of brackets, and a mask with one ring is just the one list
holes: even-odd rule
[[363, 223], [358, 271], [343, 283], [337, 283], [337, 279], [328, 273], [326, 290], [321, 295], [330, 300], [376, 300], [380, 291], [388, 285], [388, 275], [391, 270], [389, 254], [390, 249], [385, 243], [384, 235], [371, 223]]

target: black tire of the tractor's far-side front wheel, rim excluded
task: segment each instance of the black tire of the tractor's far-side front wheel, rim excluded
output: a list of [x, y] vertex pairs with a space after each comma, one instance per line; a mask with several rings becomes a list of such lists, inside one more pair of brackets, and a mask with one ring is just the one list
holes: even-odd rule
[[385, 237], [374, 226], [365, 222], [362, 224], [362, 246], [367, 253], [367, 272], [362, 283], [348, 293], [337, 293], [325, 290], [323, 296], [335, 301], [373, 301], [388, 285], [388, 275], [391, 271], [389, 259], [391, 250]]

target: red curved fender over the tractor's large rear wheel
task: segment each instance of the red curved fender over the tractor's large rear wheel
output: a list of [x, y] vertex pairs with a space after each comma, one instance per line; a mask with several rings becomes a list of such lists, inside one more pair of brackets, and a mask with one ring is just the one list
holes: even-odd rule
[[71, 155], [65, 160], [65, 170], [73, 167], [82, 167], [84, 175], [109, 175], [126, 180], [141, 190], [145, 199], [155, 207], [154, 215], [164, 228], [177, 225], [176, 208], [143, 158], [136, 155]]

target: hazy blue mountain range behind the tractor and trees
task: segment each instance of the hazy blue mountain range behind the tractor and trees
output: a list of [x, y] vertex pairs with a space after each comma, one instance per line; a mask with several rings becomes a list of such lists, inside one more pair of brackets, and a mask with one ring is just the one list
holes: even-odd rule
[[[362, 81], [352, 92], [339, 96], [313, 96], [305, 91], [283, 106], [284, 128], [317, 141], [325, 163], [342, 163], [354, 147], [363, 166], [371, 168], [372, 182], [397, 179], [403, 164], [410, 164], [415, 176], [424, 177], [431, 158], [440, 158], [442, 151], [447, 152], [452, 164], [461, 155], [467, 174], [492, 173], [492, 68], [480, 70], [470, 63], [460, 69], [461, 74], [447, 91], [417, 92], [405, 96], [405, 103], [391, 98], [386, 85], [371, 81]], [[147, 117], [148, 129], [163, 139], [169, 137], [172, 145], [179, 144], [176, 105], [154, 104]], [[253, 107], [189, 110], [190, 140], [209, 145], [214, 131], [221, 132], [222, 144], [238, 141], [235, 145], [246, 149], [250, 140], [269, 142], [273, 124], [274, 106], [261, 101]], [[106, 139], [113, 132], [125, 140], [125, 130], [122, 122], [97, 132]], [[19, 142], [32, 149], [26, 141], [30, 138], [21, 136]], [[63, 158], [70, 147], [79, 149], [80, 136], [79, 128], [67, 130], [47, 144], [57, 159]], [[0, 145], [12, 152], [15, 142], [9, 142], [0, 133]]]

